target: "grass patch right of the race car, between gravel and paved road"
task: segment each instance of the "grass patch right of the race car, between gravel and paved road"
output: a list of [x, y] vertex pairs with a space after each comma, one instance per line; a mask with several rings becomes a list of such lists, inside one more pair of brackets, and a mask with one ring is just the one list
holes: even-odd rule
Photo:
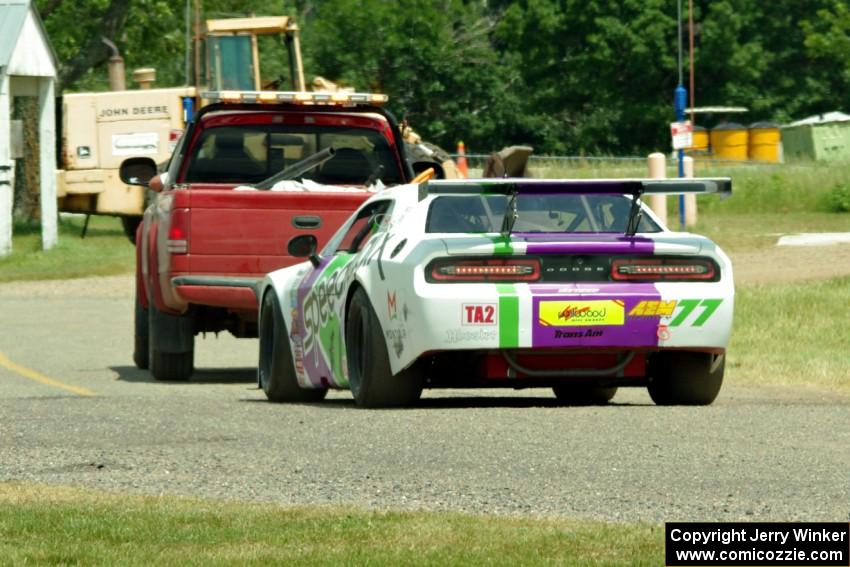
[[739, 287], [727, 383], [850, 394], [850, 278]]

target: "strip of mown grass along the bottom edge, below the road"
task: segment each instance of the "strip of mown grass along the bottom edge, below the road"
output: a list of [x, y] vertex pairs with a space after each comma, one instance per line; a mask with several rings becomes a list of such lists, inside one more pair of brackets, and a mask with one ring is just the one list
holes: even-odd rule
[[0, 483], [0, 565], [659, 565], [663, 527]]

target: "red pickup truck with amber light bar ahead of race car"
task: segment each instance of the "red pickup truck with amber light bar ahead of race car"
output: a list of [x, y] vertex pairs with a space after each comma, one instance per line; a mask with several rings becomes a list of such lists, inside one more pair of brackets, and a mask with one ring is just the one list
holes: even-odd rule
[[[133, 360], [158, 380], [189, 379], [199, 333], [257, 336], [254, 286], [300, 261], [287, 255], [292, 237], [310, 232], [321, 244], [368, 198], [367, 185], [414, 175], [376, 97], [261, 94], [274, 102], [202, 108], [166, 173], [155, 177], [147, 158], [122, 164], [126, 183], [156, 192], [136, 234]], [[292, 181], [269, 190], [281, 179]]]

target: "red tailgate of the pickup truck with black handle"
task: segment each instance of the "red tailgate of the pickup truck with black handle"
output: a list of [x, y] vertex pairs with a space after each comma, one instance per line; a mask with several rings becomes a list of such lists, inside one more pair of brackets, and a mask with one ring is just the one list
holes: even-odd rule
[[302, 261], [286, 252], [293, 236], [314, 234], [321, 248], [371, 195], [366, 191], [301, 193], [206, 188], [192, 188], [185, 193], [189, 209], [188, 271], [239, 276], [263, 275]]

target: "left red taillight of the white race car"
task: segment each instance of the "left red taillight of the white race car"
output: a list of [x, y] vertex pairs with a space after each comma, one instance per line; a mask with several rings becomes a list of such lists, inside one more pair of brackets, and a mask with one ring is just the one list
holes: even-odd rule
[[431, 282], [533, 282], [540, 279], [540, 261], [518, 258], [441, 258], [431, 262], [426, 274]]

